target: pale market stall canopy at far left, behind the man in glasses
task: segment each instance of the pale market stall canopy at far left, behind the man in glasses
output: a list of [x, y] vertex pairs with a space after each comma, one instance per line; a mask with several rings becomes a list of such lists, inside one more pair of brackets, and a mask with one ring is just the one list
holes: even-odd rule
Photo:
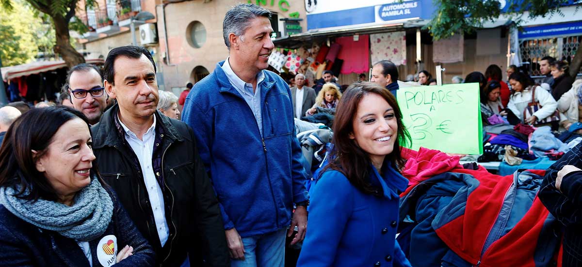
[[[86, 63], [91, 64], [105, 63], [103, 59], [85, 59], [85, 61]], [[2, 77], [4, 81], [8, 81], [12, 80], [13, 78], [28, 76], [31, 74], [44, 73], [46, 71], [56, 70], [58, 68], [64, 68], [66, 66], [67, 64], [65, 63], [65, 60], [31, 62], [17, 66], [3, 67]]]

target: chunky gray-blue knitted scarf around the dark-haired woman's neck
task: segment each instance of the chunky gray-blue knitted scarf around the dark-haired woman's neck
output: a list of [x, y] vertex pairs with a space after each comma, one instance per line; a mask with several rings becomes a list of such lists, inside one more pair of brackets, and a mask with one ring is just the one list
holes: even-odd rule
[[101, 236], [113, 214], [111, 197], [97, 178], [77, 192], [71, 207], [44, 199], [19, 199], [14, 196], [17, 192], [12, 187], [0, 187], [0, 204], [26, 222], [79, 241]]

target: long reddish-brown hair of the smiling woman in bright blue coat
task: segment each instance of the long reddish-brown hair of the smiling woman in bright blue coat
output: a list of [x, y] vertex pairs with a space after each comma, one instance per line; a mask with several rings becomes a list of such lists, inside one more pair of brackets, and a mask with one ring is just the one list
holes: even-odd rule
[[329, 156], [331, 160], [321, 173], [327, 169], [342, 172], [350, 183], [361, 192], [378, 195], [381, 194], [382, 189], [372, 186], [368, 180], [371, 164], [370, 156], [354, 140], [350, 139], [350, 134], [353, 133], [354, 117], [360, 101], [365, 95], [371, 93], [384, 98], [394, 110], [398, 131], [394, 149], [392, 153], [386, 155], [386, 159], [393, 168], [400, 169], [404, 166], [404, 159], [400, 154], [400, 145], [409, 144], [410, 135], [402, 123], [402, 113], [400, 113], [396, 98], [386, 88], [374, 82], [356, 82], [346, 89], [342, 100], [338, 104], [333, 121], [333, 149]]

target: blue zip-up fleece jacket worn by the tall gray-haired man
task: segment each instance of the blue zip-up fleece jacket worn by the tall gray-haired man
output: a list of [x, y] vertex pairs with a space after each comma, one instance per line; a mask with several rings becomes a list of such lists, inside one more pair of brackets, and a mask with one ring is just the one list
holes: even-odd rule
[[264, 70], [257, 125], [223, 63], [190, 91], [182, 120], [194, 130], [225, 229], [236, 228], [242, 237], [275, 232], [290, 224], [293, 203], [308, 197], [291, 92], [281, 77]]

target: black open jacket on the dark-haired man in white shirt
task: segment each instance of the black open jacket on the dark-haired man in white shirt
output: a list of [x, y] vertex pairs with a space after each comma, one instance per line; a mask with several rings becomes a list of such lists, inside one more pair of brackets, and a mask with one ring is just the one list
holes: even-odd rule
[[[198, 156], [190, 127], [156, 111], [152, 166], [164, 194], [169, 236], [159, 241], [139, 160], [125, 140], [115, 105], [91, 127], [101, 176], [156, 252], [157, 266], [180, 266], [188, 251], [204, 251], [210, 266], [230, 266], [216, 194]], [[192, 260], [192, 259], [191, 259]], [[199, 262], [191, 262], [198, 266]]]

